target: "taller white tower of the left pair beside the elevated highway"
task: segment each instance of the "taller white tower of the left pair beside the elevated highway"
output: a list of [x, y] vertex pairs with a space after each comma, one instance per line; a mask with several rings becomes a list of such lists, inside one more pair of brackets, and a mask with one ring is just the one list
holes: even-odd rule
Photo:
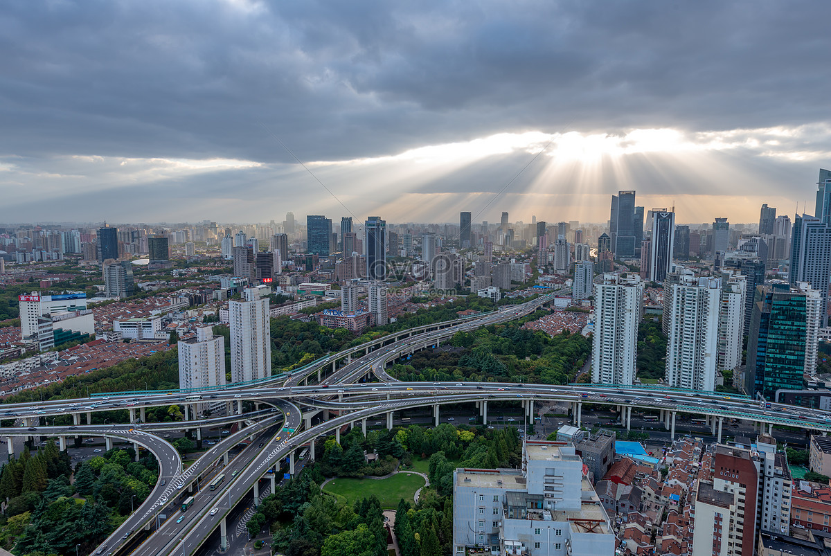
[[271, 326], [266, 286], [245, 288], [244, 300], [229, 301], [231, 380], [248, 382], [271, 376]]

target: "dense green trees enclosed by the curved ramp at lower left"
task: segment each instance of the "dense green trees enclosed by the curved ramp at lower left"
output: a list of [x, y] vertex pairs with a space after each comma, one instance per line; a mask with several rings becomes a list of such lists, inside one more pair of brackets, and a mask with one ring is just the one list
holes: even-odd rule
[[72, 470], [69, 456], [52, 442], [31, 455], [24, 451], [0, 474], [0, 495], [8, 499], [0, 544], [14, 554], [89, 554], [134, 507], [158, 478], [152, 455], [109, 450]]

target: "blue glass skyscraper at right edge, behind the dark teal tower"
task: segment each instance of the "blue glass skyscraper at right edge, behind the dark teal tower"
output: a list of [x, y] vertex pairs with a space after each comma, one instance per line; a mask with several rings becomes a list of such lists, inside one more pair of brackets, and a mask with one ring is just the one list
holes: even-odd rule
[[[831, 182], [829, 182], [831, 188]], [[828, 326], [828, 291], [831, 280], [831, 224], [803, 214], [794, 219], [790, 247], [790, 283], [807, 282], [823, 298], [822, 326]]]

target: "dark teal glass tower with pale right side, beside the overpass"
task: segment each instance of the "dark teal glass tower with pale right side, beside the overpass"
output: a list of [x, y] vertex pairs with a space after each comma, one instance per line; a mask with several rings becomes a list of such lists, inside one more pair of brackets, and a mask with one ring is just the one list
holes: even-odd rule
[[817, 366], [820, 293], [807, 283], [758, 286], [747, 340], [745, 391], [774, 400], [779, 389], [801, 389]]

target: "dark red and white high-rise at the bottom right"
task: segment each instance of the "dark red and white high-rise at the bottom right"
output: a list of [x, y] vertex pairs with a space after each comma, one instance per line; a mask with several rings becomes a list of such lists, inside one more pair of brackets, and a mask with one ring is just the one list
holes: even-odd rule
[[753, 556], [759, 472], [754, 455], [740, 447], [715, 445], [713, 480], [701, 480], [691, 556]]

